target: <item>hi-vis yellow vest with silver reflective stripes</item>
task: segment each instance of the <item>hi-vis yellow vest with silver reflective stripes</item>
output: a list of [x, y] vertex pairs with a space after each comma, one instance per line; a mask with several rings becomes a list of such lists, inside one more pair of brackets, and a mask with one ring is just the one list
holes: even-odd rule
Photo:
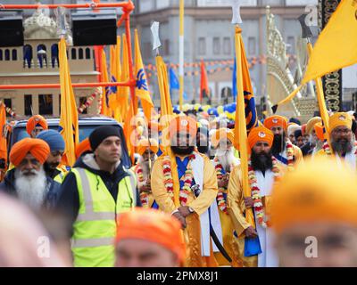
[[136, 205], [135, 178], [129, 173], [120, 180], [115, 201], [99, 175], [84, 168], [73, 168], [71, 172], [79, 191], [79, 216], [71, 240], [74, 266], [112, 267], [116, 219]]

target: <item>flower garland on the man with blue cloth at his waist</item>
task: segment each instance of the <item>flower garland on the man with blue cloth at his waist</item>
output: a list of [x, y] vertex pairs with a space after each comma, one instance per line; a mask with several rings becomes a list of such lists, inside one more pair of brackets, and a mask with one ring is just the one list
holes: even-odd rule
[[[273, 167], [272, 167], [272, 172], [274, 174], [274, 182], [278, 181], [278, 178], [280, 177], [280, 171], [278, 168], [278, 160], [274, 157], [271, 158], [273, 162]], [[248, 179], [249, 179], [249, 185], [251, 187], [252, 191], [252, 199], [254, 201], [253, 208], [255, 212], [255, 216], [258, 220], [258, 223], [262, 225], [263, 228], [266, 228], [269, 225], [269, 222], [264, 220], [264, 208], [262, 205], [262, 196], [261, 196], [261, 190], [258, 187], [258, 181], [254, 172], [254, 169], [252, 167], [252, 160], [249, 159], [248, 161]]]

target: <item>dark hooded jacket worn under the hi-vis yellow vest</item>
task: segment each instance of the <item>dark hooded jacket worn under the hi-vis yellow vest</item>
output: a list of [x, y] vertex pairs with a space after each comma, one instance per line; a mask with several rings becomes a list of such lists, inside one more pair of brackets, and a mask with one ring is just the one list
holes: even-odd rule
[[[124, 170], [124, 167], [121, 163], [112, 175], [109, 172], [90, 167], [85, 162], [85, 160], [90, 158], [88, 156], [93, 157], [93, 154], [81, 156], [73, 168], [85, 168], [93, 174], [99, 175], [102, 178], [108, 191], [110, 191], [112, 194], [112, 198], [116, 200], [118, 196], [118, 184], [120, 183], [121, 179], [129, 176], [129, 174]], [[138, 191], [136, 205], [137, 207], [141, 207]], [[79, 191], [77, 188], [76, 176], [72, 172], [69, 172], [62, 182], [61, 195], [56, 205], [56, 210], [68, 218], [68, 226], [71, 229], [79, 214]]]

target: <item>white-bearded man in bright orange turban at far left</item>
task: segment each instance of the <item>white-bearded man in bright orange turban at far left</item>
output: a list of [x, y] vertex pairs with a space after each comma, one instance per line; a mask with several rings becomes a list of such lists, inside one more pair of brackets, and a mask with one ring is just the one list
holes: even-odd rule
[[14, 168], [7, 172], [0, 189], [33, 210], [53, 208], [61, 184], [46, 176], [44, 163], [49, 153], [48, 144], [42, 140], [26, 138], [16, 142], [10, 152]]

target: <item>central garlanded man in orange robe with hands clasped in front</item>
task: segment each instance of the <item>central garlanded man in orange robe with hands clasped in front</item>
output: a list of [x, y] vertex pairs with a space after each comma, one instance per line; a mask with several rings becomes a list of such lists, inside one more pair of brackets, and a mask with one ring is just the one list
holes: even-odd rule
[[152, 191], [159, 208], [175, 216], [184, 229], [188, 267], [217, 266], [210, 235], [210, 206], [217, 177], [208, 157], [195, 151], [197, 123], [187, 116], [170, 121], [170, 153], [155, 161]]

